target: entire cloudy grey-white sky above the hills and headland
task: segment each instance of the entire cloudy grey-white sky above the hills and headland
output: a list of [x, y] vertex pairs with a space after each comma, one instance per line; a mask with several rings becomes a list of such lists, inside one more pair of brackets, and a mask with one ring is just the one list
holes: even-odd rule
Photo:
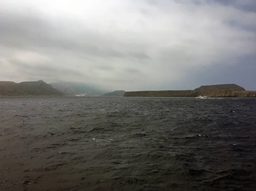
[[0, 0], [0, 80], [256, 90], [256, 0]]

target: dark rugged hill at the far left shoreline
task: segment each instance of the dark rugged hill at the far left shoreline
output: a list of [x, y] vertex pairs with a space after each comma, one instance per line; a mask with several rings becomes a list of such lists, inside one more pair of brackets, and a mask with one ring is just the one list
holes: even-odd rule
[[42, 80], [36, 82], [5, 82], [0, 81], [0, 95], [26, 96], [26, 95], [63, 95], [61, 91], [52, 88]]

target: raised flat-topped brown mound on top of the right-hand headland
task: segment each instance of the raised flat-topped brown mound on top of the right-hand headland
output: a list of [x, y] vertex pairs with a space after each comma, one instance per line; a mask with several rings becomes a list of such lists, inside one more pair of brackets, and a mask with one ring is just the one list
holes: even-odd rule
[[223, 89], [231, 89], [233, 91], [245, 91], [244, 88], [236, 84], [218, 84], [218, 85], [210, 85], [210, 86], [200, 86], [199, 88], [195, 88], [195, 91], [212, 91], [212, 90], [223, 90]]

